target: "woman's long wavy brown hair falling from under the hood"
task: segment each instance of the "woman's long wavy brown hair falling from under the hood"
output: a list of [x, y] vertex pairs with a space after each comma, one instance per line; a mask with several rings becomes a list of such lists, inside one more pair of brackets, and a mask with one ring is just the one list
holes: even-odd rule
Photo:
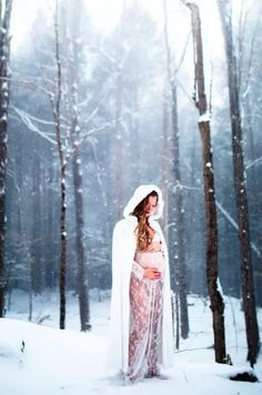
[[138, 240], [137, 247], [140, 251], [147, 250], [148, 245], [152, 241], [148, 229], [149, 223], [144, 210], [149, 202], [150, 196], [155, 196], [158, 202], [159, 195], [155, 191], [152, 191], [134, 207], [133, 212], [131, 213], [138, 219], [138, 226], [135, 227], [134, 232], [137, 234], [137, 240]]

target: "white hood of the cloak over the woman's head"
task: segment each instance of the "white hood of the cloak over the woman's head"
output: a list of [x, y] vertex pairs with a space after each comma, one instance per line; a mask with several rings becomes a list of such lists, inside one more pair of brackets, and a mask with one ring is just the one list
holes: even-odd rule
[[153, 215], [150, 215], [151, 219], [153, 220], [158, 220], [162, 213], [163, 213], [163, 198], [162, 198], [162, 192], [160, 191], [160, 189], [157, 185], [150, 184], [150, 185], [140, 185], [139, 188], [137, 188], [137, 190], [134, 191], [132, 198], [130, 199], [130, 201], [128, 202], [128, 204], [124, 207], [123, 211], [123, 216], [127, 217], [130, 215], [130, 213], [132, 213], [132, 211], [134, 210], [134, 207], [145, 198], [150, 194], [150, 192], [155, 191], [159, 195], [159, 200], [158, 200], [158, 205], [157, 205], [157, 210], [155, 213]]

